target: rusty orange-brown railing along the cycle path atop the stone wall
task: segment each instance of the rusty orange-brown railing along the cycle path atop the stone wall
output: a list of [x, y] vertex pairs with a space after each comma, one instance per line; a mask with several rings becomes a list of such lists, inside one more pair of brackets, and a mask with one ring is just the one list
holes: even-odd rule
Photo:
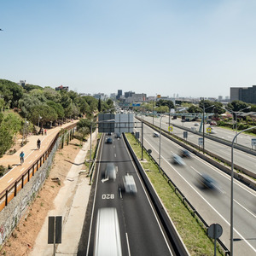
[[[71, 130], [76, 126], [76, 124], [69, 125], [64, 128], [64, 130]], [[25, 172], [20, 174], [20, 177], [16, 178], [13, 183], [11, 183], [4, 191], [0, 193], [0, 212], [4, 207], [7, 207], [9, 202], [17, 195], [17, 193], [24, 188], [26, 183], [28, 183], [31, 178], [38, 172], [39, 168], [44, 164], [44, 162], [48, 159], [49, 154], [52, 151], [52, 148], [55, 147], [55, 143], [57, 142], [60, 136], [60, 131], [57, 133], [55, 138], [49, 143], [48, 148], [38, 156], [36, 160], [32, 162], [32, 164], [26, 169]], [[72, 136], [69, 136], [69, 139], [72, 139]]]

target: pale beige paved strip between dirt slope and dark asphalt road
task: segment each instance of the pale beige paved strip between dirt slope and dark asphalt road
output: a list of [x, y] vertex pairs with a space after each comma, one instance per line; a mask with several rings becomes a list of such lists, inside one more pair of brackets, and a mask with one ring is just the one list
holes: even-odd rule
[[[93, 133], [92, 142], [95, 142], [95, 139], [96, 133]], [[90, 140], [84, 143], [73, 166], [67, 173], [67, 177], [73, 177], [73, 182], [66, 180], [55, 197], [55, 209], [48, 212], [30, 256], [53, 255], [54, 247], [47, 243], [49, 216], [62, 216], [61, 244], [57, 245], [55, 255], [77, 255], [91, 188], [89, 177], [80, 174], [83, 170], [81, 170], [82, 166], [78, 164], [84, 161], [89, 149]]]

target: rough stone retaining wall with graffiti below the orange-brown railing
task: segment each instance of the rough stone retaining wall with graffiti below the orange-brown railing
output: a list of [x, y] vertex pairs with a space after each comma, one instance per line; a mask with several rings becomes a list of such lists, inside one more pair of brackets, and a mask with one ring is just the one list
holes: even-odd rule
[[16, 224], [19, 223], [20, 218], [26, 216], [29, 205], [35, 199], [36, 195], [38, 195], [39, 189], [43, 186], [48, 176], [50, 166], [52, 165], [60, 142], [61, 138], [57, 140], [48, 159], [31, 178], [30, 182], [26, 183], [24, 188], [9, 202], [8, 206], [4, 207], [0, 212], [0, 245], [10, 236]]

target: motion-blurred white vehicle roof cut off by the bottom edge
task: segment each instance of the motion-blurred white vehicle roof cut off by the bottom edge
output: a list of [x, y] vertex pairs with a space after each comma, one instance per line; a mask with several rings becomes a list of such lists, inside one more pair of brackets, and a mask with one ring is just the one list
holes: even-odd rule
[[122, 247], [119, 231], [119, 218], [116, 208], [98, 210], [94, 238], [94, 256], [121, 256]]

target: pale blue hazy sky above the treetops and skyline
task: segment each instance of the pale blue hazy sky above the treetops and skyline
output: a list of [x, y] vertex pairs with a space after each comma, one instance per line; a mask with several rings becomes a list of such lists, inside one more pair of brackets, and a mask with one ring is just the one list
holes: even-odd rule
[[9, 0], [0, 78], [81, 93], [230, 96], [256, 84], [254, 0]]

